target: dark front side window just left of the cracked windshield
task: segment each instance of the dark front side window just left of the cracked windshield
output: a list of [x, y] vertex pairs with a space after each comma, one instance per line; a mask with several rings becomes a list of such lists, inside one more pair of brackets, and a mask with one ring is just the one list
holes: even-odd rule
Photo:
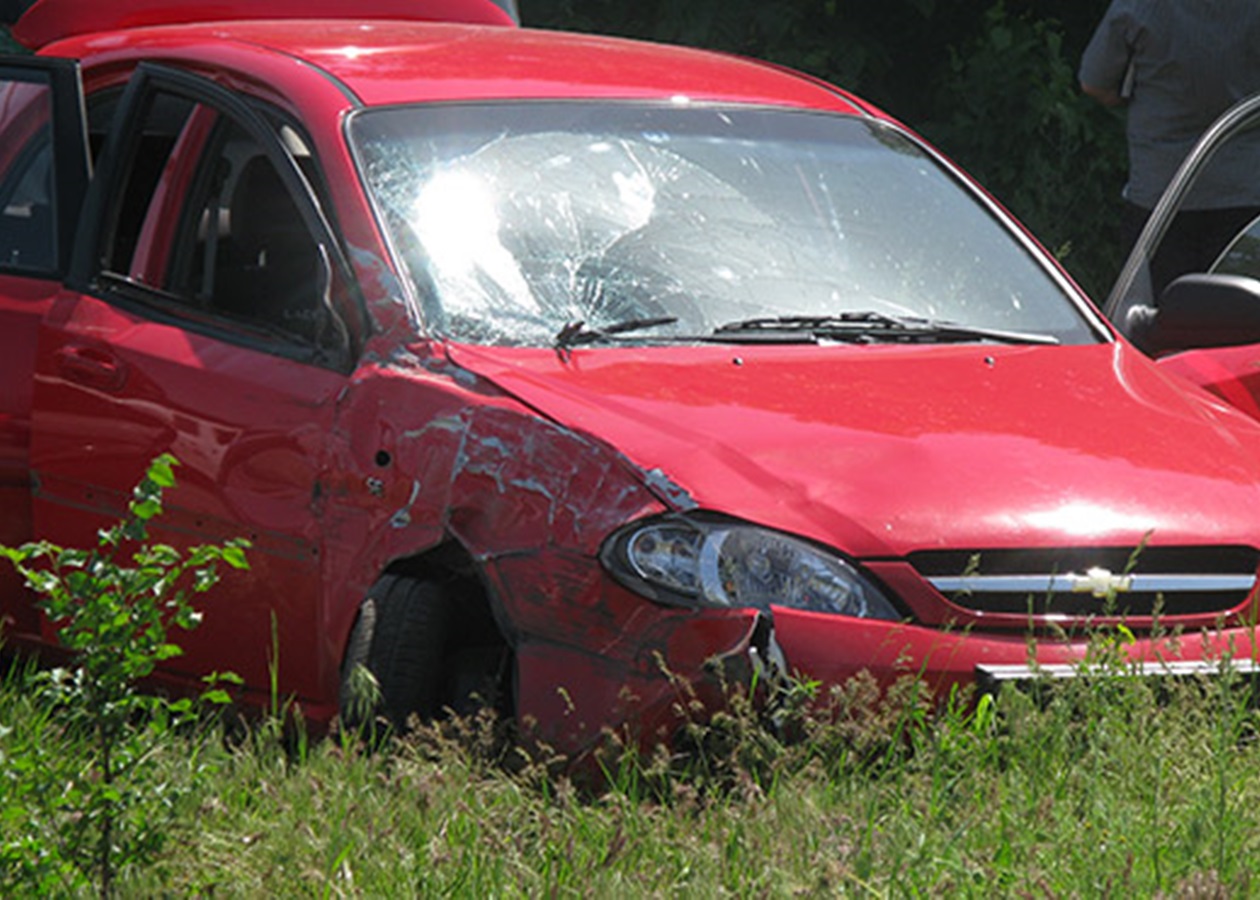
[[[152, 92], [140, 120], [107, 200], [106, 274], [203, 323], [302, 343], [341, 339], [325, 297], [329, 263], [275, 150], [183, 95]], [[311, 170], [296, 130], [277, 127], [278, 141]]]

